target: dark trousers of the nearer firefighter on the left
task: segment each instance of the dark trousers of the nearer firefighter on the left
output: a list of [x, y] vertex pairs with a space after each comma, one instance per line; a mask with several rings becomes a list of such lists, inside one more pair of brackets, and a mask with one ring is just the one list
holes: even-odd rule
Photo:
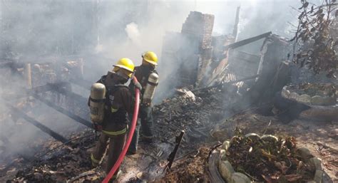
[[[108, 160], [106, 166], [107, 174], [109, 171], [111, 171], [111, 168], [116, 163], [116, 161], [118, 160], [118, 156], [123, 150], [123, 146], [126, 143], [126, 132], [121, 135], [106, 135], [105, 133], [102, 133], [100, 139], [98, 140], [98, 144], [96, 145], [96, 149], [91, 155], [91, 161], [93, 165], [98, 165], [98, 163], [103, 158], [103, 154], [108, 146], [108, 140], [109, 147], [107, 151]], [[116, 177], [116, 174], [118, 174], [119, 170], [120, 167], [118, 167], [118, 170], [114, 174], [114, 177]]]

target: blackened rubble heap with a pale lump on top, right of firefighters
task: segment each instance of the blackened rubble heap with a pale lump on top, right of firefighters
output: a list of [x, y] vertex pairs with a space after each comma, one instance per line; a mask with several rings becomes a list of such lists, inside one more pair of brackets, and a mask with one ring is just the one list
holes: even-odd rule
[[181, 130], [185, 130], [183, 149], [196, 147], [210, 137], [210, 130], [225, 117], [225, 109], [230, 100], [225, 93], [209, 90], [194, 95], [188, 90], [178, 90], [174, 98], [163, 100], [154, 106], [155, 132], [161, 141], [175, 140]]

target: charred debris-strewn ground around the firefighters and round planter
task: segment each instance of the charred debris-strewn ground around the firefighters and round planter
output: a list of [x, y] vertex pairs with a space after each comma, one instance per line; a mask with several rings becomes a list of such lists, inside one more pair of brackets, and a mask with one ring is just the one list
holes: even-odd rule
[[[225, 91], [192, 95], [181, 90], [174, 98], [155, 105], [155, 142], [148, 144], [140, 138], [138, 153], [126, 156], [118, 181], [210, 182], [205, 171], [209, 152], [218, 141], [232, 137], [235, 127], [240, 127], [243, 133], [295, 136], [297, 145], [309, 148], [313, 155], [322, 158], [324, 170], [334, 181], [338, 180], [337, 122], [294, 120], [283, 124], [276, 117], [265, 117], [252, 111], [229, 118], [227, 107], [234, 101], [235, 97]], [[180, 130], [186, 133], [176, 160], [170, 172], [163, 172]], [[95, 135], [91, 130], [83, 130], [71, 138], [78, 139], [60, 147], [60, 142], [45, 142], [34, 161], [18, 160], [0, 169], [4, 176], [0, 181], [99, 182], [105, 174], [101, 167], [92, 169], [90, 160], [90, 152], [97, 142]]]

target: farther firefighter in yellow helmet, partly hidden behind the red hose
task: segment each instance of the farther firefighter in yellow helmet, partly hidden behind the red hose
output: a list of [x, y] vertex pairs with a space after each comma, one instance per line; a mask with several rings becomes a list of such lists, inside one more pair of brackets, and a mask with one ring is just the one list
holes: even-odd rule
[[[145, 142], [153, 142], [153, 115], [152, 115], [152, 105], [151, 100], [145, 100], [145, 90], [147, 89], [147, 84], [149, 85], [150, 75], [155, 73], [158, 77], [158, 72], [155, 70], [155, 67], [158, 66], [158, 57], [152, 51], [147, 51], [142, 55], [142, 64], [138, 67], [135, 67], [135, 78], [138, 79], [140, 85], [142, 86], [141, 100], [140, 100], [140, 110], [138, 112], [138, 125], [136, 126], [133, 140], [130, 143], [128, 149], [129, 155], [134, 155], [138, 148], [138, 137], [139, 130], [141, 128], [143, 139]], [[155, 85], [157, 85], [158, 80], [156, 80]], [[133, 90], [134, 84], [130, 83], [130, 89]], [[153, 87], [155, 87], [153, 85]], [[153, 90], [154, 92], [154, 90]], [[148, 94], [148, 93], [147, 93]], [[153, 95], [153, 94], [152, 94]], [[153, 96], [152, 96], [153, 97]]]

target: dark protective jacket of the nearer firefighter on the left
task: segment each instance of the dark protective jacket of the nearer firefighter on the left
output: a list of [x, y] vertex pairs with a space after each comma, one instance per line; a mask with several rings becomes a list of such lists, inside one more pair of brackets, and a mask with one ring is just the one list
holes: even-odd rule
[[126, 85], [113, 83], [103, 75], [97, 83], [106, 86], [105, 116], [102, 129], [107, 135], [121, 135], [127, 130], [128, 113], [132, 113], [132, 97]]

